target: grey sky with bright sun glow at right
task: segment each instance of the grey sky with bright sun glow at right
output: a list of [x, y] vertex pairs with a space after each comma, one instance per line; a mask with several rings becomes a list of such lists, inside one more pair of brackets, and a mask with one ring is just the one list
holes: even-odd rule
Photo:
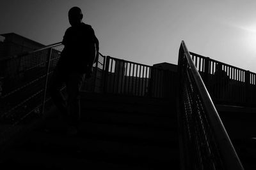
[[104, 55], [143, 64], [177, 64], [179, 45], [256, 72], [255, 0], [1, 0], [0, 34], [45, 45], [61, 41], [79, 6]]

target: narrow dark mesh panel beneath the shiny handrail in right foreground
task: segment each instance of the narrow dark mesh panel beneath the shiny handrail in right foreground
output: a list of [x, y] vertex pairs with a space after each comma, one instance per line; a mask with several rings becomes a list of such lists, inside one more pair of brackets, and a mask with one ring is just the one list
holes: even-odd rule
[[184, 83], [182, 87], [182, 125], [188, 156], [188, 169], [224, 169], [212, 132], [209, 118], [205, 113], [202, 98], [198, 92], [188, 66], [183, 67]]

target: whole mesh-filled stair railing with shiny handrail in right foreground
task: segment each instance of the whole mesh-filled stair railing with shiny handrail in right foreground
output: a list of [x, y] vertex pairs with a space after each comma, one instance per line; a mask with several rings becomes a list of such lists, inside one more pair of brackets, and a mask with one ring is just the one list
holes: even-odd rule
[[198, 72], [206, 66], [202, 67], [202, 59], [194, 61], [182, 41], [178, 86], [180, 165], [182, 169], [243, 169]]

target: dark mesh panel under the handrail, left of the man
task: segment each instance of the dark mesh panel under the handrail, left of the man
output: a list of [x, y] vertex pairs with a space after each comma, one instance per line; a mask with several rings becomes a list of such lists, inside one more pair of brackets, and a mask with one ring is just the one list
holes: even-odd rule
[[[38, 114], [42, 112], [42, 106], [49, 98], [49, 94], [45, 95], [47, 78], [51, 76], [61, 50], [63, 46], [59, 45], [1, 60], [3, 90], [0, 120], [2, 124], [17, 124], [32, 112]], [[46, 99], [45, 96], [47, 96]]]

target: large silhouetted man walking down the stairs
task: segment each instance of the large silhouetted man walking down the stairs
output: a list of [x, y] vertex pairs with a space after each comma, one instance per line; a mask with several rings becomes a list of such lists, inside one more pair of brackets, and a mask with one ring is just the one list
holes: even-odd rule
[[[76, 133], [79, 122], [77, 96], [84, 78], [92, 76], [92, 65], [99, 57], [99, 41], [91, 25], [82, 22], [83, 13], [80, 8], [73, 7], [68, 11], [71, 25], [63, 36], [64, 49], [51, 79], [51, 97], [67, 120], [69, 130]], [[67, 100], [61, 94], [63, 84], [67, 88]]]

